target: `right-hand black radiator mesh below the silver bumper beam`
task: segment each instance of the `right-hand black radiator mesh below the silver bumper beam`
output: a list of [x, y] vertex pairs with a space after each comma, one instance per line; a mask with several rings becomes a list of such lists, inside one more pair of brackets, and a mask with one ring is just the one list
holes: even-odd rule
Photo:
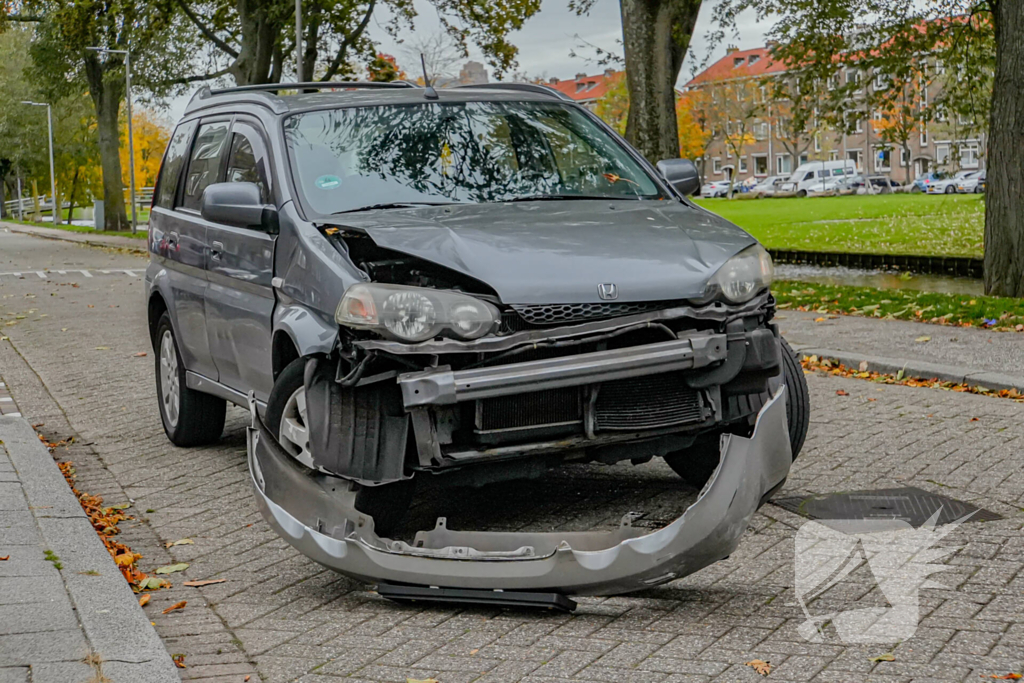
[[679, 373], [605, 382], [594, 407], [596, 429], [631, 431], [703, 422], [700, 392]]

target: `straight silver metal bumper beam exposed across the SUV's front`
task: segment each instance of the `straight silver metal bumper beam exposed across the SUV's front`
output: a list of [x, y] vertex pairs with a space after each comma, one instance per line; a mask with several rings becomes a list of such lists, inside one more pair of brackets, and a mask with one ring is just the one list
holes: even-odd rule
[[655, 344], [453, 371], [436, 368], [398, 376], [406, 408], [445, 405], [627, 377], [705, 368], [728, 355], [726, 335], [694, 335]]

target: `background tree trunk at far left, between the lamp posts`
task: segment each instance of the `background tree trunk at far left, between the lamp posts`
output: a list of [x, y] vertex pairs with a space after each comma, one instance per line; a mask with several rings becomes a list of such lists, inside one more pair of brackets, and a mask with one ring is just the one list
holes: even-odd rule
[[85, 76], [89, 95], [96, 108], [96, 130], [99, 133], [99, 166], [103, 173], [103, 229], [129, 229], [125, 212], [124, 184], [121, 181], [121, 145], [118, 112], [124, 85], [119, 79], [103, 78], [103, 68], [92, 54], [85, 57]]

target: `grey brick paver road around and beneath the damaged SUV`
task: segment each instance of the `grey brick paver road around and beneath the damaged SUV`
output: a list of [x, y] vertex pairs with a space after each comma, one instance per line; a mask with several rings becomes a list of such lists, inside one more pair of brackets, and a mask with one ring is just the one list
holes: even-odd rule
[[[141, 263], [0, 232], [4, 271]], [[310, 562], [266, 527], [247, 482], [242, 411], [229, 410], [216, 445], [167, 441], [140, 280], [0, 276], [0, 334], [10, 337], [0, 342], [0, 367], [22, 411], [45, 422], [51, 437], [78, 435], [62, 455], [75, 460], [84, 489], [134, 501], [140, 519], [122, 536], [145, 556], [143, 569], [190, 563], [146, 607], [168, 650], [187, 655], [184, 678], [733, 682], [760, 680], [744, 666], [760, 658], [772, 664], [770, 680], [977, 681], [1024, 668], [1024, 404], [809, 378], [810, 435], [780, 495], [914, 485], [1006, 516], [965, 524], [942, 542], [962, 546], [934, 578], [948, 588], [922, 591], [918, 632], [895, 646], [799, 635], [793, 554], [805, 520], [772, 505], [728, 560], [642, 594], [582, 599], [573, 614], [398, 606]], [[693, 497], [659, 461], [574, 466], [477, 490], [424, 488], [413, 522], [430, 526], [444, 514], [452, 526], [493, 528], [589, 528], [627, 511], [645, 512], [639, 523], [654, 526]], [[181, 538], [195, 545], [164, 548]], [[182, 575], [227, 581], [183, 588]], [[160, 613], [180, 599], [188, 600], [184, 611]], [[813, 607], [883, 600], [871, 578], [855, 571]], [[894, 661], [871, 661], [890, 650]]]

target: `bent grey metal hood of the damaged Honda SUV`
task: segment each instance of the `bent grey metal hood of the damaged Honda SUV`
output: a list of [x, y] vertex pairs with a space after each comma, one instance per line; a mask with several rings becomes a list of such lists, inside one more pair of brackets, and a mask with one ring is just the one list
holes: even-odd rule
[[504, 303], [686, 299], [755, 243], [732, 223], [677, 202], [565, 201], [373, 211], [337, 221], [380, 247], [486, 283]]

